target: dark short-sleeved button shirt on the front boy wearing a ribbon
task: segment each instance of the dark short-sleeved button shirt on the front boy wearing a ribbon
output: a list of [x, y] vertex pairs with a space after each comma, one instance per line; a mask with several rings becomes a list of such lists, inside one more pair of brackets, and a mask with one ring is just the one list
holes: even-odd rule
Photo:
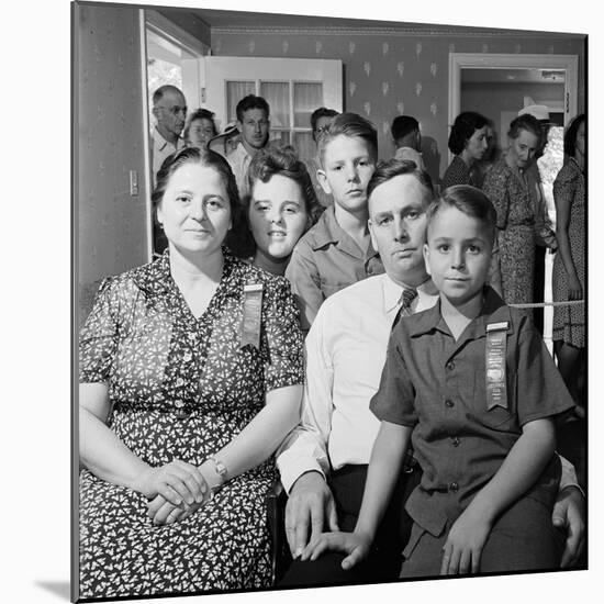
[[[507, 322], [507, 409], [489, 410], [486, 326]], [[545, 344], [527, 316], [485, 288], [481, 314], [452, 337], [440, 303], [403, 317], [392, 333], [371, 411], [382, 421], [413, 427], [414, 455], [424, 471], [406, 510], [438, 536], [496, 473], [522, 426], [573, 409]], [[418, 422], [420, 420], [420, 422]], [[552, 504], [557, 458], [527, 496]]]

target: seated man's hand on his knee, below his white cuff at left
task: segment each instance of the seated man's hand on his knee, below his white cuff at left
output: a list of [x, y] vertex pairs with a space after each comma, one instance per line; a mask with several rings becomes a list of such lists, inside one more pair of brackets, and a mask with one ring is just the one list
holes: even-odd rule
[[292, 558], [298, 558], [309, 541], [318, 539], [325, 519], [329, 530], [339, 530], [336, 504], [325, 479], [318, 472], [306, 472], [293, 483], [286, 506], [286, 534]]

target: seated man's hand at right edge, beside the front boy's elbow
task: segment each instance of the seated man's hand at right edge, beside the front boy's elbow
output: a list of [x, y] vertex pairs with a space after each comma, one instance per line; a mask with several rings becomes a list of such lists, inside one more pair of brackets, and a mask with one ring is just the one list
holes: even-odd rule
[[585, 545], [585, 500], [579, 489], [567, 486], [558, 493], [551, 522], [567, 532], [560, 568], [570, 568], [577, 564]]

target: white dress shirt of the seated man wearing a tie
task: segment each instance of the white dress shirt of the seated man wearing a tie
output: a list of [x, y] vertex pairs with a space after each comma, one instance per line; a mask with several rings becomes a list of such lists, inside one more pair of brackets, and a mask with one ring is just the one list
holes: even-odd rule
[[[305, 472], [326, 477], [347, 465], [369, 463], [380, 427], [369, 402], [380, 384], [402, 291], [387, 273], [378, 275], [327, 298], [318, 310], [305, 340], [302, 418], [277, 451], [288, 493]], [[428, 280], [417, 288], [412, 312], [437, 300]], [[563, 485], [577, 484], [573, 467], [561, 460]]]

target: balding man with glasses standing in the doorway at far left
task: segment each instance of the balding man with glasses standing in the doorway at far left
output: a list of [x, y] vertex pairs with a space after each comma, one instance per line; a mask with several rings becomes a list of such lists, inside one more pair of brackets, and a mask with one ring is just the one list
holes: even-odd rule
[[171, 85], [160, 86], [153, 93], [153, 114], [157, 120], [153, 131], [153, 178], [165, 159], [184, 147], [180, 133], [187, 120], [184, 94]]

